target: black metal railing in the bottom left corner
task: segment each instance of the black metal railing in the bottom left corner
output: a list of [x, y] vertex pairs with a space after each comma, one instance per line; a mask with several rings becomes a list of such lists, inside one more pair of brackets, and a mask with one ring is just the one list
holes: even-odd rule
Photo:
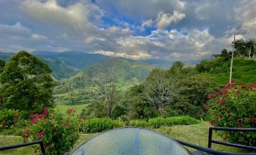
[[32, 144], [40, 144], [42, 155], [46, 155], [45, 154], [45, 147], [44, 147], [44, 144], [43, 144], [42, 140], [32, 141], [32, 142], [23, 143], [23, 144], [14, 144], [14, 145], [9, 145], [9, 146], [5, 146], [5, 147], [0, 147], [0, 150], [10, 150], [10, 149], [14, 149], [14, 148], [17, 148], [17, 147], [26, 147], [26, 146], [29, 146], [29, 145], [32, 145]]

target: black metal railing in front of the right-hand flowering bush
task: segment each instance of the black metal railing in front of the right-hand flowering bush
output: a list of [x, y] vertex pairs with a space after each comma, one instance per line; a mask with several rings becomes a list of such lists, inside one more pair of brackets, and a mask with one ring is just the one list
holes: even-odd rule
[[212, 131], [213, 130], [230, 131], [230, 132], [237, 132], [237, 131], [239, 131], [239, 132], [256, 132], [256, 128], [209, 127], [209, 136], [208, 136], [208, 148], [211, 148], [211, 143], [215, 143], [215, 144], [223, 144], [223, 145], [230, 146], [230, 147], [238, 147], [238, 148], [243, 148], [246, 150], [256, 151], [256, 147], [246, 146], [246, 145], [242, 145], [242, 144], [233, 144], [233, 143], [228, 143], [228, 142], [224, 142], [224, 141], [212, 140]]

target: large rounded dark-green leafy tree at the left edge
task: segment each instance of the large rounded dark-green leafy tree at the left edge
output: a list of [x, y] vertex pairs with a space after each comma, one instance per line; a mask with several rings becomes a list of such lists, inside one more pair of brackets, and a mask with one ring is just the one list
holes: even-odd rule
[[3, 108], [32, 113], [54, 105], [52, 92], [55, 81], [45, 62], [26, 51], [9, 59], [0, 76]]

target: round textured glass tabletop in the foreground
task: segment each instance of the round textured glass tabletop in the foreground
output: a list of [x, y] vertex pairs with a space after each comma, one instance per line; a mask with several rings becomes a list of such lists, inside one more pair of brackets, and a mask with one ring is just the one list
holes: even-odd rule
[[86, 141], [71, 155], [188, 155], [176, 141], [141, 128], [122, 128], [103, 132]]

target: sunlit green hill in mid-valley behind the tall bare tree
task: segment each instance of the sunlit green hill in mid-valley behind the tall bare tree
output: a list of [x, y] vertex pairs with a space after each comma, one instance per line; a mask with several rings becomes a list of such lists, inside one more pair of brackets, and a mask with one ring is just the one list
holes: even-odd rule
[[139, 84], [153, 69], [151, 65], [131, 59], [106, 59], [87, 66], [83, 71], [61, 81], [56, 87], [55, 101], [66, 104], [82, 104], [91, 102], [98, 96], [94, 78], [100, 77], [106, 70], [113, 70], [116, 74], [117, 90], [125, 90], [134, 84]]

